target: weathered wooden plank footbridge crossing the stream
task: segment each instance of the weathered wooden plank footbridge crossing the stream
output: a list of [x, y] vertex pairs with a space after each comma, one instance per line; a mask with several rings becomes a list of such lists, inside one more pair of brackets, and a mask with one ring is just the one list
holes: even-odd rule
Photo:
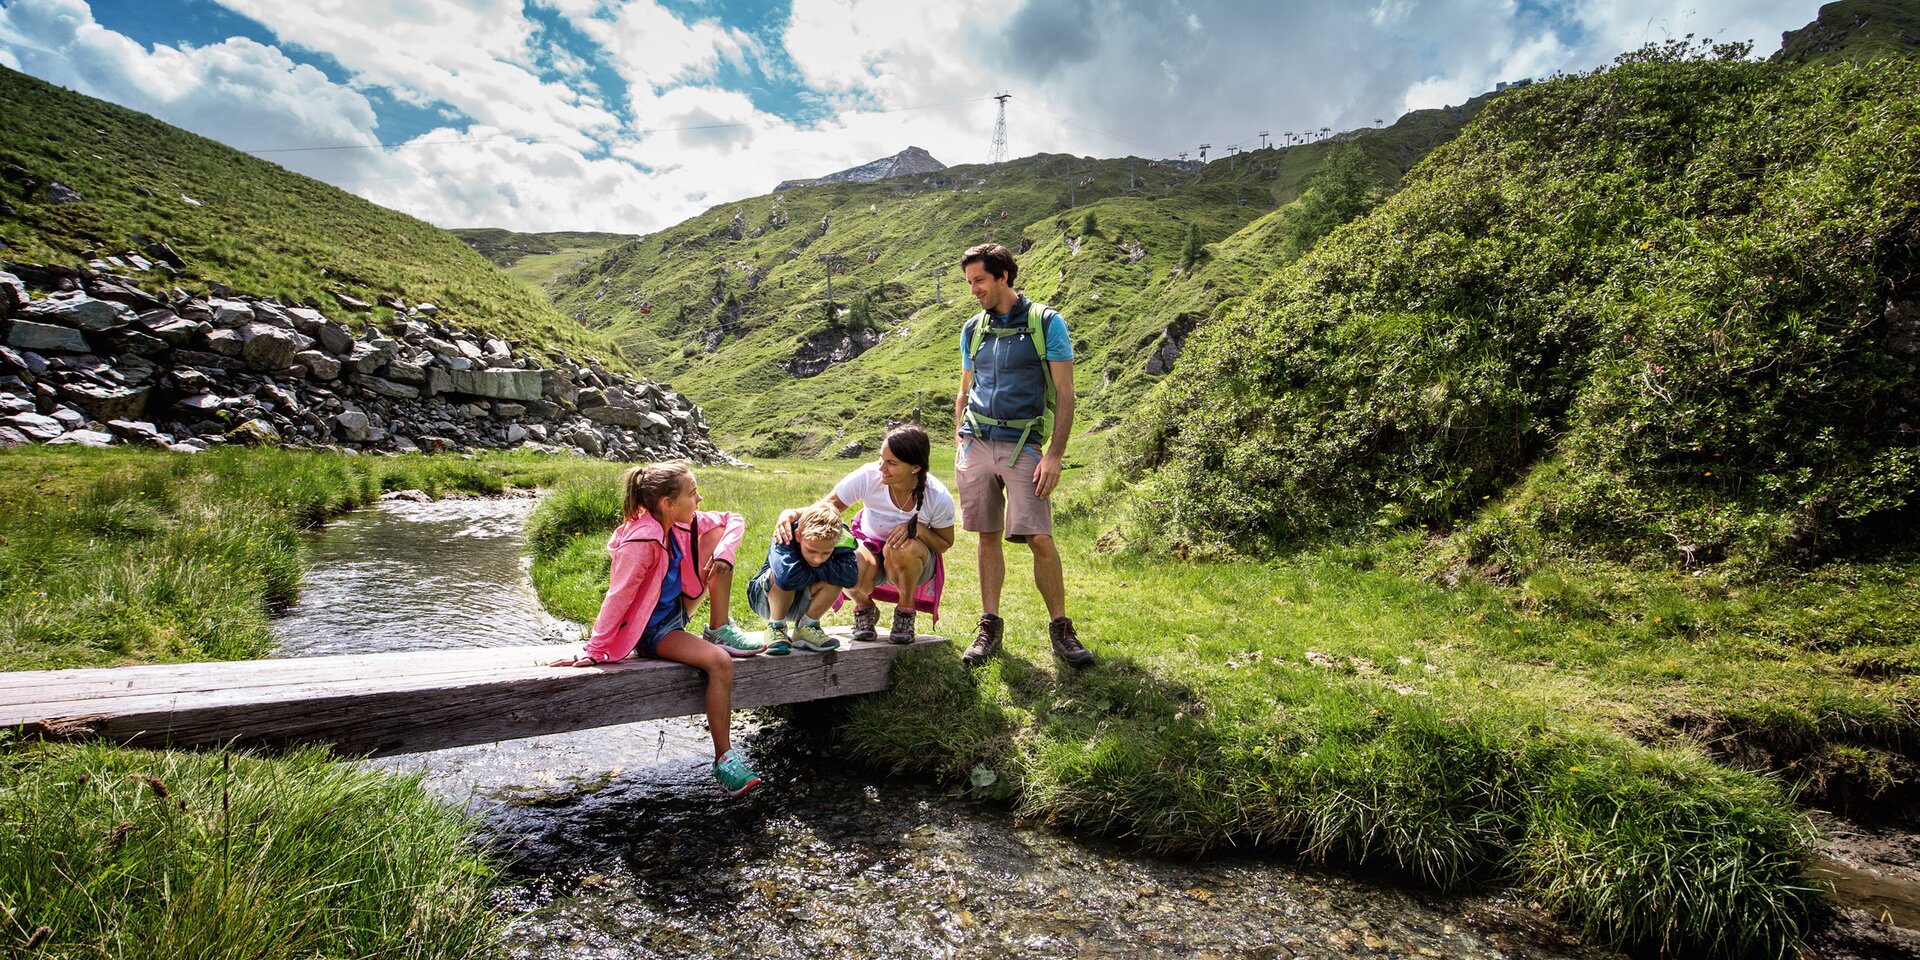
[[[854, 643], [733, 660], [733, 708], [891, 687], [893, 659], [945, 643]], [[330, 743], [384, 756], [705, 710], [707, 674], [666, 660], [547, 666], [578, 651], [492, 647], [0, 674], [0, 730], [134, 747]]]

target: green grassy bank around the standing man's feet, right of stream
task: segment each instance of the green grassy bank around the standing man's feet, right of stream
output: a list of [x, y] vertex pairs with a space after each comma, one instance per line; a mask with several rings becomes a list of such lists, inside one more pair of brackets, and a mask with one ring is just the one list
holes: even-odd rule
[[[950, 457], [937, 445], [941, 474]], [[1812, 924], [1799, 791], [1859, 814], [1905, 803], [1920, 697], [1885, 664], [1920, 655], [1920, 564], [1732, 578], [1567, 561], [1448, 588], [1444, 541], [1413, 534], [1167, 563], [1119, 547], [1127, 493], [1087, 467], [1102, 461], [1104, 438], [1075, 445], [1058, 507], [1069, 612], [1100, 664], [1056, 666], [1014, 551], [1006, 655], [964, 670], [962, 536], [939, 626], [954, 643], [851, 707], [852, 756], [1071, 833], [1513, 885], [1596, 939], [1722, 956], [1780, 952]], [[774, 515], [851, 465], [699, 470], [710, 509], [749, 518], [737, 584]], [[609, 465], [532, 520], [534, 578], [563, 616], [599, 609], [616, 490]], [[760, 626], [741, 589], [732, 614]]]

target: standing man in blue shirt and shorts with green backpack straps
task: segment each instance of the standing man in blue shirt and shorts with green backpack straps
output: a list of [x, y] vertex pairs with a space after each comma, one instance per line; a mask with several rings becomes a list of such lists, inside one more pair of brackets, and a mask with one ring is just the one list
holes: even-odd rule
[[1073, 340], [1058, 311], [1014, 290], [1020, 265], [1000, 244], [960, 257], [981, 311], [960, 330], [960, 396], [954, 397], [954, 468], [962, 528], [979, 536], [979, 628], [962, 657], [987, 662], [1000, 649], [1000, 540], [1033, 551], [1033, 582], [1052, 616], [1054, 655], [1073, 666], [1092, 653], [1068, 618], [1066, 578], [1054, 545], [1054, 486], [1073, 432]]

